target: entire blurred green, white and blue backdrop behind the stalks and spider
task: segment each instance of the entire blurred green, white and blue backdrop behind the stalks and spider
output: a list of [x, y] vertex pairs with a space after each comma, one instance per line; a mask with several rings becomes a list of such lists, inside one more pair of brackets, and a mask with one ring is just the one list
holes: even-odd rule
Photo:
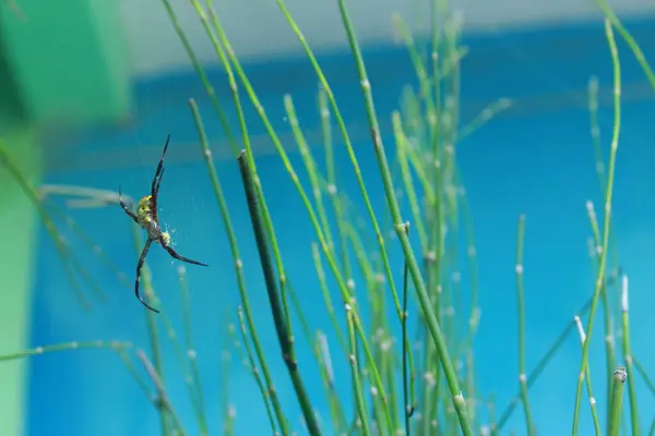
[[[417, 38], [426, 37], [429, 4], [418, 0], [348, 3], [364, 48], [381, 130], [392, 153], [391, 112], [400, 105], [403, 87], [416, 84], [406, 48], [394, 32], [392, 14], [402, 14]], [[327, 0], [287, 0], [286, 4], [333, 87], [373, 206], [386, 214], [360, 87], [337, 4]], [[655, 59], [653, 2], [612, 0], [609, 4], [646, 58]], [[171, 0], [171, 5], [239, 137], [225, 73], [195, 11], [183, 0]], [[476, 339], [478, 383], [481, 391], [495, 392], [500, 409], [517, 387], [513, 263], [519, 214], [527, 216], [528, 367], [593, 289], [585, 202], [593, 201], [599, 213], [602, 201], [594, 168], [587, 86], [592, 76], [598, 77], [599, 125], [607, 148], [612, 125], [611, 61], [602, 13], [594, 1], [461, 0], [451, 1], [450, 5], [462, 20], [464, 45], [468, 48], [462, 61], [462, 120], [474, 119], [499, 98], [514, 102], [510, 110], [460, 144], [457, 152], [475, 221], [479, 261], [483, 317]], [[310, 146], [322, 156], [318, 81], [275, 1], [222, 0], [215, 7], [266, 113], [291, 153], [294, 165], [301, 168], [284, 111], [286, 93], [294, 98]], [[239, 299], [227, 239], [188, 106], [189, 98], [198, 101], [237, 227], [253, 311], [261, 324], [260, 336], [272, 372], [279, 379], [283, 407], [302, 433], [296, 399], [270, 328], [270, 308], [238, 169], [164, 3], [2, 0], [0, 27], [0, 138], [35, 185], [67, 184], [112, 192], [120, 185], [123, 193], [140, 198], [148, 193], [166, 135], [171, 134], [159, 198], [160, 219], [174, 231], [176, 249], [182, 255], [210, 264], [209, 268], [190, 265], [187, 275], [205, 402], [209, 415], [214, 416], [210, 429], [217, 434], [224, 407], [219, 392], [226, 383], [219, 376], [219, 367], [224, 364], [224, 350], [231, 346], [225, 329], [236, 319]], [[643, 350], [640, 359], [645, 367], [655, 367], [650, 330], [640, 328], [647, 326], [642, 323], [648, 323], [655, 303], [650, 269], [655, 242], [655, 203], [651, 201], [655, 93], [624, 43], [619, 41], [619, 50], [623, 118], [615, 231], [621, 266], [631, 279], [632, 346]], [[315, 234], [249, 101], [246, 112], [288, 276], [312, 326], [330, 330], [324, 307], [314, 301], [318, 291], [310, 254]], [[335, 133], [340, 178], [357, 197], [355, 178], [337, 136]], [[322, 158], [318, 160], [323, 164]], [[300, 177], [307, 182], [305, 172]], [[128, 340], [147, 348], [144, 310], [134, 299], [131, 284], [122, 286], [93, 256], [93, 249], [64, 230], [71, 250], [107, 295], [105, 304], [95, 304], [91, 312], [82, 311], [57, 247], [33, 204], [2, 170], [0, 198], [0, 354], [85, 340]], [[130, 220], [123, 211], [110, 205], [69, 213], [131, 283], [138, 253], [129, 231]], [[67, 221], [60, 223], [66, 229]], [[388, 226], [383, 230], [392, 229]], [[394, 245], [392, 259], [400, 266], [402, 257], [396, 249]], [[181, 331], [179, 263], [172, 263], [155, 246], [148, 264], [163, 307]], [[398, 267], [396, 275], [400, 274]], [[86, 288], [84, 292], [92, 294]], [[595, 334], [594, 340], [600, 344], [600, 328]], [[298, 347], [299, 360], [309, 361], [309, 347]], [[596, 366], [600, 374], [602, 347], [594, 347], [592, 370]], [[166, 348], [164, 355], [165, 366], [171, 367], [167, 373], [169, 393], [180, 399], [180, 414], [193, 422], [184, 380], [174, 368], [175, 351]], [[579, 362], [580, 343], [572, 337], [532, 390], [540, 434], [569, 431]], [[349, 377], [345, 361], [335, 363], [335, 372], [337, 378]], [[233, 359], [229, 374], [229, 401], [238, 416], [236, 434], [267, 434], [265, 411], [252, 401], [259, 392], [251, 375], [238, 359]], [[315, 368], [308, 368], [306, 378], [310, 391], [320, 389]], [[52, 353], [2, 363], [0, 386], [2, 435], [158, 432], [157, 414], [148, 398], [120, 360], [106, 350]], [[600, 383], [597, 390], [604, 392]], [[349, 398], [347, 384], [342, 391]], [[647, 428], [655, 401], [645, 388], [640, 390], [640, 400], [645, 404], [642, 426]], [[604, 398], [598, 401], [605, 403]], [[315, 405], [327, 414], [320, 392], [315, 393]], [[586, 404], [583, 408], [581, 434], [591, 434]], [[523, 434], [522, 420], [521, 413], [515, 413], [508, 428]], [[191, 427], [190, 434], [196, 434], [196, 429]]]

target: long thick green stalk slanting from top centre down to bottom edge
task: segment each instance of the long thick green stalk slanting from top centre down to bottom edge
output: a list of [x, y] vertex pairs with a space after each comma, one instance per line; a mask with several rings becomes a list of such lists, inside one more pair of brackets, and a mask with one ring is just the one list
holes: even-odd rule
[[404, 226], [402, 225], [401, 210], [398, 206], [397, 198], [395, 197], [395, 192], [391, 182], [391, 174], [389, 171], [389, 164], [386, 161], [386, 156], [384, 154], [384, 146], [382, 144], [382, 137], [380, 135], [380, 129], [378, 126], [378, 120], [376, 116], [376, 109], [373, 104], [373, 98], [371, 95], [371, 85], [368, 80], [368, 74], [366, 72], [366, 66], [364, 63], [364, 59], [361, 57], [361, 52], [359, 46], [357, 45], [357, 38], [355, 36], [355, 32], [353, 29], [353, 24], [350, 22], [350, 17], [346, 10], [345, 1], [338, 1], [340, 11], [342, 14], [342, 20], [344, 23], [344, 27], [348, 35], [348, 43], [350, 45], [350, 49], [357, 62], [357, 70], [359, 72], [359, 80], [361, 83], [362, 95], [366, 102], [366, 111], [367, 118], [371, 129], [371, 135], [373, 140], [373, 146], [376, 150], [376, 155], [378, 158], [378, 164], [380, 167], [380, 172], [384, 182], [384, 192], [386, 196], [386, 202], [389, 204], [389, 208], [393, 218], [394, 227], [398, 239], [401, 240], [401, 244], [403, 246], [403, 252], [405, 254], [405, 258], [409, 265], [409, 270], [412, 272], [412, 278], [414, 279], [414, 286], [418, 293], [418, 298], [420, 301], [421, 308], [426, 314], [426, 319], [428, 322], [428, 326], [430, 328], [430, 334], [432, 335], [432, 339], [434, 341], [434, 346], [439, 352], [439, 356], [441, 359], [441, 364], [443, 366], [443, 372], [445, 373], [445, 377], [448, 379], [450, 392], [452, 396], [453, 405], [457, 412], [457, 417], [460, 420], [460, 426], [465, 436], [473, 436], [473, 428], [471, 425], [471, 421], [468, 419], [467, 410], [466, 410], [466, 401], [464, 400], [464, 396], [462, 390], [460, 389], [460, 384], [457, 382], [457, 375], [455, 373], [454, 366], [452, 364], [451, 358], [448, 352], [448, 347], [445, 343], [445, 339], [443, 334], [441, 332], [441, 328], [439, 327], [439, 322], [432, 311], [430, 304], [430, 298], [426, 290], [420, 269], [418, 264], [416, 263], [416, 258], [414, 256], [414, 252], [412, 251], [412, 245], [409, 243], [409, 239], [404, 231]]

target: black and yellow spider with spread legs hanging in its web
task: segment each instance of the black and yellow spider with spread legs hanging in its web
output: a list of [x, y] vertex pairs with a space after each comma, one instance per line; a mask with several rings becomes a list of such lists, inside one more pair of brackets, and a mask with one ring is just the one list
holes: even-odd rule
[[120, 207], [128, 214], [130, 218], [134, 222], [136, 222], [141, 228], [147, 231], [147, 241], [141, 252], [141, 257], [139, 257], [139, 264], [136, 264], [136, 280], [134, 282], [134, 294], [143, 303], [144, 306], [150, 308], [153, 312], [159, 313], [156, 308], [152, 307], [147, 304], [139, 294], [139, 282], [141, 280], [141, 268], [143, 267], [143, 263], [145, 262], [145, 256], [152, 245], [153, 242], [160, 244], [164, 250], [170, 254], [170, 256], [175, 257], [178, 261], [186, 262], [188, 264], [209, 266], [198, 261], [192, 261], [187, 258], [180, 254], [178, 254], [170, 246], [172, 240], [170, 234], [167, 231], [163, 231], [159, 226], [159, 220], [157, 217], [157, 195], [159, 194], [159, 185], [162, 184], [162, 177], [164, 175], [164, 156], [166, 155], [166, 150], [168, 149], [168, 143], [170, 142], [170, 133], [166, 137], [166, 145], [164, 145], [164, 152], [162, 153], [162, 158], [159, 158], [159, 165], [157, 165], [157, 170], [155, 171], [155, 177], [153, 179], [151, 194], [145, 195], [143, 198], [139, 201], [136, 205], [136, 214], [132, 211], [132, 205], [128, 205], [122, 199], [122, 194], [120, 190], [120, 185], [118, 186], [118, 201], [120, 203]]

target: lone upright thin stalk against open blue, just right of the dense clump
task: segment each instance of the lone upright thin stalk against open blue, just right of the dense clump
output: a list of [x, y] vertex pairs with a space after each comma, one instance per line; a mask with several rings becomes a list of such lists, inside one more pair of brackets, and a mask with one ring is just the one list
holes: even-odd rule
[[528, 435], [535, 434], [535, 424], [532, 419], [527, 397], [527, 377], [525, 376], [525, 306], [523, 301], [523, 241], [525, 238], [525, 215], [519, 217], [519, 238], [516, 246], [516, 299], [519, 301], [519, 383], [521, 399], [525, 413], [525, 426]]

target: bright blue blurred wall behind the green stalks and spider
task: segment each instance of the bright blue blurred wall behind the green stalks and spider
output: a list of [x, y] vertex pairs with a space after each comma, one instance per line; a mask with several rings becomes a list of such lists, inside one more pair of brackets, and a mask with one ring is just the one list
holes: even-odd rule
[[[628, 26], [638, 41], [642, 41], [646, 58], [655, 59], [655, 46], [648, 45], [655, 32], [655, 21], [632, 21], [628, 22]], [[585, 202], [594, 201], [598, 214], [602, 202], [594, 171], [585, 92], [592, 75], [599, 77], [602, 87], [611, 85], [611, 63], [600, 21], [529, 32], [478, 35], [465, 38], [464, 43], [471, 52], [462, 66], [463, 119], [471, 120], [485, 104], [500, 97], [519, 101], [515, 108], [465, 140], [457, 150], [475, 221], [480, 277], [483, 317], [476, 339], [477, 380], [485, 395], [496, 393], [500, 413], [517, 388], [514, 258], [519, 214], [525, 213], [527, 216], [525, 306], [528, 368], [535, 365], [593, 289], [594, 274], [586, 245], [591, 231]], [[619, 41], [619, 48], [627, 95], [622, 106], [614, 219], [620, 263], [630, 275], [632, 347], [635, 355], [648, 368], [655, 365], [655, 352], [648, 340], [652, 335], [647, 327], [640, 326], [652, 317], [655, 302], [653, 275], [650, 272], [655, 242], [652, 226], [655, 203], [652, 201], [651, 177], [655, 161], [655, 150], [651, 146], [655, 133], [651, 122], [655, 119], [655, 94], [642, 86], [643, 74], [622, 41]], [[369, 47], [365, 56], [388, 154], [391, 156], [393, 137], [390, 135], [390, 114], [398, 107], [402, 86], [414, 83], [415, 76], [402, 47]], [[320, 57], [346, 121], [349, 125], [361, 128], [365, 125], [364, 106], [349, 59], [348, 53], [324, 53]], [[282, 102], [283, 93], [286, 92], [294, 96], [301, 125], [306, 129], [319, 126], [317, 80], [306, 60], [249, 64], [247, 73], [251, 75], [278, 132], [289, 132]], [[211, 78], [218, 95], [225, 96], [223, 100], [228, 108], [230, 100], [224, 75], [212, 72]], [[224, 341], [224, 329], [228, 322], [236, 318], [239, 298], [223, 222], [204, 162], [200, 158], [200, 147], [184, 145], [176, 149], [176, 144], [192, 144], [196, 140], [187, 106], [188, 98], [198, 99], [212, 141], [219, 140], [222, 131], [192, 72], [138, 83], [134, 89], [138, 96], [135, 122], [119, 131], [97, 130], [80, 134], [64, 152], [50, 157], [51, 171], [46, 182], [109, 190], [117, 190], [120, 184], [123, 192], [139, 197], [148, 191], [160, 146], [166, 133], [171, 133], [171, 162], [162, 184], [160, 217], [176, 230], [174, 239], [181, 254], [211, 265], [210, 268], [190, 265], [187, 271], [192, 295], [192, 327], [210, 429], [216, 434], [221, 428], [222, 410], [218, 393], [224, 383], [219, 378], [221, 352], [231, 344]], [[636, 92], [630, 95], [630, 89]], [[569, 94], [553, 98], [548, 104], [544, 97], [556, 93]], [[246, 106], [249, 120], [252, 120], [251, 133], [264, 133], [251, 105], [248, 102]], [[231, 112], [229, 117], [235, 120]], [[611, 123], [611, 107], [605, 105], [600, 109], [600, 128], [606, 150]], [[234, 133], [238, 138], [236, 124]], [[336, 131], [333, 137], [338, 148], [340, 135]], [[374, 154], [366, 130], [364, 134], [354, 134], [354, 138], [373, 206], [384, 216], [380, 221], [389, 223]], [[107, 157], [120, 156], [128, 148], [133, 156], [139, 156], [136, 161], [117, 159], [112, 162], [116, 168], [95, 168], [107, 162]], [[223, 156], [228, 155], [223, 153]], [[315, 156], [322, 165], [320, 149], [315, 150]], [[346, 154], [340, 150], [336, 156], [341, 186], [353, 198], [359, 198]], [[69, 166], [72, 159], [85, 162], [85, 169], [80, 170], [79, 165], [76, 168]], [[308, 186], [305, 171], [300, 170], [301, 160], [294, 155], [291, 161], [299, 169], [305, 186]], [[221, 160], [216, 165], [237, 230], [259, 335], [283, 407], [294, 428], [302, 431], [300, 413], [272, 328], [238, 169], [231, 159]], [[260, 157], [258, 168], [282, 244], [285, 266], [303, 303], [306, 316], [313, 328], [331, 331], [310, 256], [310, 244], [315, 241], [315, 234], [305, 208], [276, 155], [269, 153]], [[365, 209], [361, 213], [365, 214]], [[409, 218], [407, 207], [403, 214]], [[119, 207], [80, 210], [74, 211], [73, 217], [94, 235], [131, 280], [136, 259], [128, 231], [129, 220], [122, 210]], [[86, 266], [103, 284], [110, 301], [104, 306], [96, 306], [92, 313], [83, 313], [76, 305], [50, 239], [45, 231], [41, 233], [32, 344], [121, 339], [148, 350], [143, 307], [133, 299], [132, 292], [120, 286], [99, 262], [88, 261]], [[82, 244], [72, 239], [71, 243], [83, 256], [87, 255]], [[392, 264], [402, 265], [398, 247], [395, 243], [390, 246]], [[181, 335], [176, 267], [158, 246], [148, 255], [148, 264], [164, 308]], [[400, 280], [400, 269], [395, 275]], [[334, 298], [334, 301], [338, 301], [336, 293]], [[341, 315], [341, 312], [337, 314]], [[296, 336], [300, 337], [299, 326], [296, 328]], [[598, 410], [604, 412], [602, 331], [603, 324], [598, 318], [594, 329], [592, 375]], [[326, 422], [329, 413], [319, 373], [303, 340], [298, 341], [298, 353], [314, 407]], [[580, 342], [576, 336], [571, 336], [531, 391], [534, 419], [543, 435], [560, 435], [570, 431], [580, 354]], [[165, 346], [165, 355], [169, 395], [176, 400], [187, 429], [194, 434], [196, 429], [184, 384], [168, 344]], [[338, 383], [349, 380], [348, 367], [336, 351], [333, 362], [340, 391], [349, 403], [349, 384]], [[231, 366], [230, 402], [237, 409], [237, 434], [269, 434], [264, 408], [251, 375], [236, 359], [236, 354]], [[586, 392], [583, 398], [586, 398]], [[642, 429], [645, 429], [653, 419], [655, 401], [642, 383], [639, 383], [639, 399]], [[119, 359], [105, 350], [57, 353], [31, 360], [28, 416], [28, 435], [143, 435], [158, 431], [157, 413]], [[581, 416], [581, 434], [591, 434], [586, 401], [583, 401]], [[505, 428], [524, 434], [521, 409], [514, 412]]]

